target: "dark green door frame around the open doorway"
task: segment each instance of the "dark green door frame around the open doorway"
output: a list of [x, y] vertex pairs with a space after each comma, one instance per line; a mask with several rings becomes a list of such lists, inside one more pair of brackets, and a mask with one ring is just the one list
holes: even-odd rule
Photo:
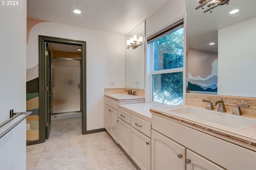
[[[82, 64], [81, 64], [81, 111], [82, 111], [82, 134], [87, 134], [86, 130], [86, 42], [79, 40], [70, 40], [64, 38], [55, 38], [39, 35], [39, 141], [38, 143], [45, 142], [46, 130], [45, 130], [45, 113], [46, 113], [46, 71], [45, 71], [45, 55], [44, 55], [44, 43], [63, 43], [70, 45], [82, 46]], [[90, 132], [88, 132], [90, 133]]]

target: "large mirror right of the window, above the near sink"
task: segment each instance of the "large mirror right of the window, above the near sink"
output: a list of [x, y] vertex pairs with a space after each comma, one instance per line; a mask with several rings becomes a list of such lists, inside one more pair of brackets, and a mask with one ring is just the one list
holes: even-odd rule
[[256, 1], [199, 5], [187, 0], [187, 92], [256, 97]]

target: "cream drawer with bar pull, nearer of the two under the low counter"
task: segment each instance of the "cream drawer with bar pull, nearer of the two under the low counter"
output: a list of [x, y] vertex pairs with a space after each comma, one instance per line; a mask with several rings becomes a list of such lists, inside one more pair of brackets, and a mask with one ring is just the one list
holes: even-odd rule
[[151, 138], [151, 123], [131, 115], [131, 126]]

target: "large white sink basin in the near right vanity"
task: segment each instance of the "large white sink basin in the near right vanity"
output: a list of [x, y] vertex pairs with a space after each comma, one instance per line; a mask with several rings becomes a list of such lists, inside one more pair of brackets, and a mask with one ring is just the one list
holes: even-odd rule
[[194, 119], [200, 119], [209, 123], [215, 123], [225, 127], [241, 130], [243, 128], [256, 125], [256, 119], [247, 118], [228, 113], [221, 113], [217, 111], [210, 111], [196, 107], [182, 107], [179, 109], [170, 109], [170, 113], [185, 115]]

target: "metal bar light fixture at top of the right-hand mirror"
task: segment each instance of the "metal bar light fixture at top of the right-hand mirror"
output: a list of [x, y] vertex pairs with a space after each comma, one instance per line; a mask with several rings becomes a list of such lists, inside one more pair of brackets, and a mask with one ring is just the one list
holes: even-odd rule
[[204, 10], [204, 13], [210, 11], [212, 12], [213, 8], [216, 8], [219, 5], [229, 4], [229, 0], [198, 0], [199, 6], [196, 7], [196, 10], [199, 8], [204, 9], [204, 5], [207, 4], [207, 7], [209, 7], [207, 10]]

